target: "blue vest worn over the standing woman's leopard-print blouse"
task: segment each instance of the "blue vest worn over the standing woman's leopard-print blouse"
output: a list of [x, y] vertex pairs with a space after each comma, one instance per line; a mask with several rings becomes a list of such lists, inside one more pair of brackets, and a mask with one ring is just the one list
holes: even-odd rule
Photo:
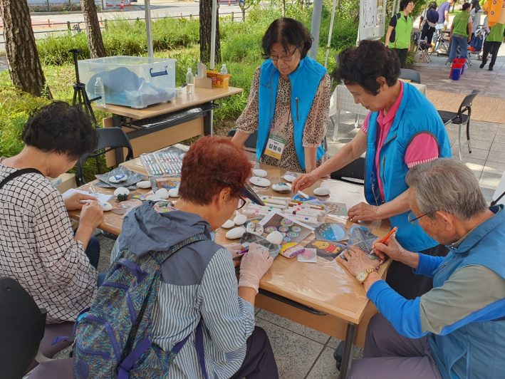
[[[303, 129], [307, 120], [308, 112], [311, 110], [312, 102], [316, 96], [319, 82], [328, 73], [326, 68], [306, 56], [300, 61], [300, 66], [293, 73], [288, 75], [291, 81], [291, 114], [294, 125], [294, 140], [296, 155], [303, 170], [305, 170], [305, 150], [303, 149]], [[280, 73], [274, 67], [271, 59], [266, 60], [261, 65], [261, 75], [259, 77], [259, 126], [258, 142], [256, 143], [256, 159], [260, 160], [265, 151], [266, 141], [269, 140], [271, 125], [274, 121], [274, 113], [277, 99], [278, 77]], [[320, 160], [324, 155], [324, 147], [318, 147], [316, 160]]]

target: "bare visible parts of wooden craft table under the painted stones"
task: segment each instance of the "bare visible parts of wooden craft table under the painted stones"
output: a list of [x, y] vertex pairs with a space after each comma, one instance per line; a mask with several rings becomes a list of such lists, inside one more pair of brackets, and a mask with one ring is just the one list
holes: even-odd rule
[[[181, 145], [177, 145], [181, 147]], [[124, 162], [123, 166], [135, 172], [146, 173], [140, 159]], [[256, 162], [256, 168], [269, 172], [268, 179], [272, 184], [283, 182], [281, 175], [286, 170]], [[328, 187], [331, 190], [328, 200], [331, 202], [343, 202], [351, 205], [364, 201], [363, 186], [352, 185], [336, 180], [320, 180], [314, 187], [310, 187], [304, 192], [313, 194], [316, 187]], [[112, 193], [113, 190], [94, 187], [93, 183], [83, 186], [85, 190], [95, 190], [99, 192]], [[145, 193], [148, 190], [137, 190], [138, 193]], [[271, 188], [258, 190], [259, 194], [275, 194]], [[135, 194], [135, 191], [132, 192]], [[286, 194], [288, 197], [289, 194]], [[111, 203], [114, 203], [111, 200]], [[71, 218], [78, 220], [78, 212], [70, 212]], [[331, 219], [328, 218], [328, 222]], [[100, 229], [118, 235], [121, 231], [123, 220], [120, 215], [107, 212], [105, 222], [100, 225]], [[346, 227], [351, 227], [352, 222], [348, 220]], [[388, 220], [374, 222], [373, 233], [382, 237], [389, 232], [391, 226]], [[216, 242], [218, 244], [231, 244], [238, 240], [229, 240], [225, 237], [226, 230], [218, 229]], [[313, 239], [311, 234], [302, 245]], [[382, 264], [379, 270], [380, 276], [385, 279], [387, 267], [390, 261]], [[301, 323], [309, 328], [321, 331], [330, 336], [345, 341], [344, 357], [340, 378], [345, 378], [350, 367], [350, 353], [352, 344], [364, 346], [365, 332], [370, 318], [378, 313], [377, 308], [371, 303], [365, 294], [363, 285], [358, 284], [354, 276], [336, 263], [336, 261], [326, 261], [318, 257], [316, 264], [298, 262], [296, 258], [287, 259], [278, 255], [272, 264], [271, 269], [260, 281], [260, 292], [256, 296], [256, 306], [266, 311], [277, 314], [291, 321]]]

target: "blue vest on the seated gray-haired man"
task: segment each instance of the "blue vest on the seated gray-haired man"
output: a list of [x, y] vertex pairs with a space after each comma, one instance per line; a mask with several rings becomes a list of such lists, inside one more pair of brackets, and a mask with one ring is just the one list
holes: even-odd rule
[[[505, 279], [505, 211], [496, 212], [470, 234], [434, 271], [433, 287], [449, 279], [457, 269], [479, 264]], [[485, 313], [469, 314], [471, 323], [458, 328], [455, 323], [444, 336], [430, 333], [429, 346], [443, 379], [505, 378], [505, 299], [491, 303]], [[494, 321], [492, 321], [494, 320]]]

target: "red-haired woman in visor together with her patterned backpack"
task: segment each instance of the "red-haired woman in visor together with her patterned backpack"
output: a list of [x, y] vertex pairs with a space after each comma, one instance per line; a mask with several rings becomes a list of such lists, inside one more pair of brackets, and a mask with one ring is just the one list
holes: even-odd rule
[[251, 168], [228, 138], [202, 137], [184, 155], [177, 202], [148, 201], [127, 214], [109, 274], [77, 327], [76, 371], [278, 379], [269, 338], [254, 326], [259, 280], [273, 259], [256, 244], [237, 254], [238, 244], [220, 246], [211, 234], [245, 197], [261, 202], [246, 185]]

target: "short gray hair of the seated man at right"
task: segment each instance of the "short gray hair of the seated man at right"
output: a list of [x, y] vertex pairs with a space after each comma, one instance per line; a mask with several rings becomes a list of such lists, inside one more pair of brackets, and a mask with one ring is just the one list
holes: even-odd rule
[[443, 211], [466, 221], [487, 209], [477, 178], [459, 160], [422, 163], [407, 172], [405, 181], [415, 188], [417, 207], [432, 219], [434, 212]]

